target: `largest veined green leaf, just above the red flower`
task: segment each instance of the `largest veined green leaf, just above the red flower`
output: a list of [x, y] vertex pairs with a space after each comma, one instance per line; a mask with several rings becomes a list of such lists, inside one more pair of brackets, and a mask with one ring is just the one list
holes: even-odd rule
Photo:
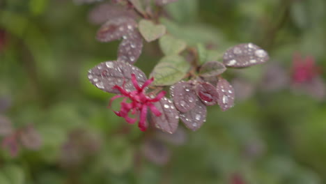
[[165, 56], [155, 66], [150, 77], [155, 78], [153, 84], [156, 86], [172, 85], [185, 77], [189, 67], [182, 56]]

